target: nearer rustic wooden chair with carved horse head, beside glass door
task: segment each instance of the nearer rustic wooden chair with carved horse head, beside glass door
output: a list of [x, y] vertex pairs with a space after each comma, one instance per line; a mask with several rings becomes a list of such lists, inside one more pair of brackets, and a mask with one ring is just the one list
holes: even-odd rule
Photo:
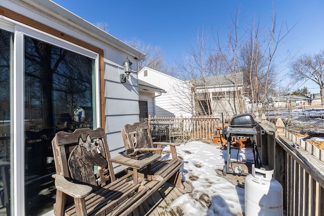
[[126, 181], [132, 174], [115, 179], [105, 136], [103, 128], [55, 135], [55, 215], [120, 215], [145, 198], [148, 187]]

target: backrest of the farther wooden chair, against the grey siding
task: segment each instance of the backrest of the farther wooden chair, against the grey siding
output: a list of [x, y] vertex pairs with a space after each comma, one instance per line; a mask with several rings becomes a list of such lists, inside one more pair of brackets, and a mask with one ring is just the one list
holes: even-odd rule
[[154, 147], [150, 125], [147, 121], [144, 123], [126, 124], [121, 129], [121, 135], [123, 136], [126, 149]]

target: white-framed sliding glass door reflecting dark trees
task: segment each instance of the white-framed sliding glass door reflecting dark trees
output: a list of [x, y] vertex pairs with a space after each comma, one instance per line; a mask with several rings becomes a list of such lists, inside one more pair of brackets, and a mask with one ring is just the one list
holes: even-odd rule
[[1, 24], [0, 216], [17, 208], [42, 215], [53, 209], [56, 196], [53, 137], [96, 127], [99, 55]]

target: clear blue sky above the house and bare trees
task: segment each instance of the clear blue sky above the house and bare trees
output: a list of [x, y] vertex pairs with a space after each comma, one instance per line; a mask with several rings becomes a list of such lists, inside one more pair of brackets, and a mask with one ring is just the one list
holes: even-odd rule
[[[293, 28], [280, 53], [316, 53], [324, 49], [324, 1], [322, 0], [200, 0], [200, 1], [104, 1], [53, 0], [90, 23], [105, 22], [111, 35], [125, 41], [137, 38], [159, 46], [169, 65], [182, 59], [193, 46], [198, 31], [219, 32], [226, 39], [232, 17], [239, 13], [239, 27], [245, 29], [251, 17], [271, 23], [273, 6], [277, 23]], [[126, 26], [126, 28], [124, 27]], [[285, 81], [284, 81], [285, 82]], [[286, 80], [288, 83], [288, 81]], [[303, 84], [311, 90], [313, 86]]]

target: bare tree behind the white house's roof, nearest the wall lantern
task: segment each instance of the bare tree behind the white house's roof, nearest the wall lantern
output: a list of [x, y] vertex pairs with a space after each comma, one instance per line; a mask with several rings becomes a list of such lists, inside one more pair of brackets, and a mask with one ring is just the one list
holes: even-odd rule
[[145, 45], [141, 40], [138, 40], [137, 38], [126, 40], [125, 42], [126, 44], [145, 54], [145, 58], [138, 63], [139, 70], [146, 66], [160, 72], [168, 72], [168, 67], [165, 64], [164, 54], [162, 53], [160, 47]]

